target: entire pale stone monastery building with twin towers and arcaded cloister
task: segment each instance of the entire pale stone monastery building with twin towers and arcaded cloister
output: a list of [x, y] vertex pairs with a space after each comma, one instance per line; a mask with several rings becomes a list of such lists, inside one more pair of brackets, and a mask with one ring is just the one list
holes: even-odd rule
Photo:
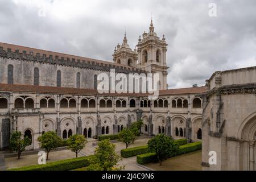
[[[255, 169], [255, 68], [242, 69], [244, 75], [216, 72], [206, 86], [167, 89], [166, 52], [165, 38], [158, 37], [152, 22], [134, 50], [125, 35], [114, 49], [113, 63], [0, 43], [1, 150], [9, 146], [10, 134], [16, 130], [32, 139], [27, 149], [35, 150], [36, 139], [46, 131], [56, 131], [63, 139], [73, 134], [97, 138], [142, 119], [146, 135], [164, 133], [189, 142], [203, 137], [205, 169]], [[98, 93], [97, 75], [110, 76], [110, 69], [126, 75], [159, 73], [158, 99], [148, 100], [144, 93]], [[229, 87], [237, 84], [249, 84], [254, 91], [247, 93], [245, 87], [244, 93], [233, 94]], [[221, 155], [216, 167], [209, 167], [209, 150]]]

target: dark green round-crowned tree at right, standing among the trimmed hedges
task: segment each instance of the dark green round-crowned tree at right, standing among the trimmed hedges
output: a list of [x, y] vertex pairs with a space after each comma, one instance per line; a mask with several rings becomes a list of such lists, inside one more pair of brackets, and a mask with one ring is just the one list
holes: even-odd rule
[[148, 140], [148, 151], [155, 152], [158, 157], [158, 162], [162, 166], [164, 159], [178, 150], [177, 144], [174, 143], [174, 139], [167, 137], [164, 134], [156, 135], [156, 137]]

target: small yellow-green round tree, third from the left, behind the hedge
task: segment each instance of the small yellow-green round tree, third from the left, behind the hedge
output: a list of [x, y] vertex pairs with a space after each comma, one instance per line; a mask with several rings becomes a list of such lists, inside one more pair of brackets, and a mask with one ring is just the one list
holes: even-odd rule
[[85, 147], [86, 139], [83, 135], [73, 135], [68, 138], [68, 149], [77, 154]]

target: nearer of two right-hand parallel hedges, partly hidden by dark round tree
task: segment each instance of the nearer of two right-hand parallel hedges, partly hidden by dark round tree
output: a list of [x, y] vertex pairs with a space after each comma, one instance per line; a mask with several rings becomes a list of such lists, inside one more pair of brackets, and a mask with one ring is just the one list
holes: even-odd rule
[[[177, 152], [175, 152], [174, 154], [171, 154], [168, 157], [171, 158], [172, 156], [187, 154], [189, 152], [200, 150], [201, 148], [202, 148], [201, 142], [184, 144], [183, 146], [179, 147], [179, 150]], [[156, 161], [158, 161], [158, 159], [156, 157], [155, 152], [137, 155], [137, 163], [139, 164], [147, 164], [147, 163], [156, 162]]]

